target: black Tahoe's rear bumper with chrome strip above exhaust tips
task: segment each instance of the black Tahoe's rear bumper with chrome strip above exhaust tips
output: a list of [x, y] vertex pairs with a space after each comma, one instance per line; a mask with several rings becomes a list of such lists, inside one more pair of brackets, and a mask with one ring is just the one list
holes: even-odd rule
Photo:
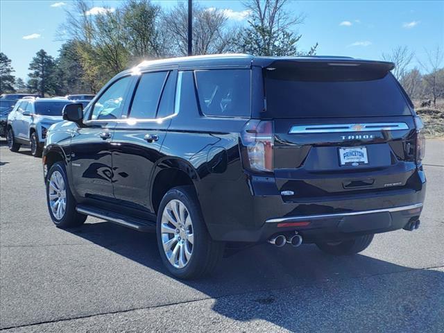
[[[246, 242], [266, 241], [275, 234], [294, 231], [298, 231], [305, 242], [312, 243], [398, 230], [420, 218], [425, 199], [425, 175], [418, 170], [414, 177], [416, 189], [350, 194], [316, 202], [287, 203], [279, 194], [267, 195], [263, 191], [261, 195], [252, 196], [250, 219], [244, 215], [233, 223], [234, 216], [230, 216], [228, 222], [231, 223], [219, 221], [207, 223], [207, 226], [214, 239]], [[263, 183], [261, 187], [265, 188]], [[225, 210], [225, 214], [230, 213]]]

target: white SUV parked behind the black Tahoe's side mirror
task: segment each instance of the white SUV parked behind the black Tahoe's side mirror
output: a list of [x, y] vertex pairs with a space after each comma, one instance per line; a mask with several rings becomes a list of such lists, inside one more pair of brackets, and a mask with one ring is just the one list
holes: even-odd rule
[[68, 99], [25, 98], [17, 102], [8, 115], [7, 133], [10, 151], [19, 151], [22, 144], [31, 145], [31, 154], [42, 156], [46, 130], [62, 121], [62, 110], [72, 103]]

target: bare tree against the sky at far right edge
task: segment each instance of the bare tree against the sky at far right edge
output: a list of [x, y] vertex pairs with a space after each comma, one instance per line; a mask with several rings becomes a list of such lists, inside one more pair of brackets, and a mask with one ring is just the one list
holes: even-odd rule
[[436, 106], [436, 99], [442, 93], [440, 87], [443, 83], [441, 83], [440, 67], [443, 64], [444, 54], [439, 46], [431, 51], [425, 50], [425, 53], [427, 54], [427, 60], [425, 62], [418, 60], [418, 62], [427, 72], [424, 80], [429, 88], [429, 93], [432, 94], [433, 104]]

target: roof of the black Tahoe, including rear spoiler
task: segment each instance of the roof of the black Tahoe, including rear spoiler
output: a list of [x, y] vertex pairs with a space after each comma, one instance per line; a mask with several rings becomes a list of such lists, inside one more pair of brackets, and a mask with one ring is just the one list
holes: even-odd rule
[[367, 65], [383, 65], [393, 68], [392, 62], [362, 60], [341, 56], [301, 56], [301, 57], [258, 57], [243, 53], [225, 53], [212, 54], [208, 56], [190, 56], [180, 58], [168, 58], [160, 60], [147, 60], [141, 62], [133, 69], [124, 71], [124, 74], [131, 72], [144, 71], [157, 67], [169, 67], [178, 69], [197, 69], [197, 68], [223, 68], [223, 67], [240, 67], [249, 68], [251, 66], [268, 67], [273, 62], [334, 62], [341, 64], [367, 64]]

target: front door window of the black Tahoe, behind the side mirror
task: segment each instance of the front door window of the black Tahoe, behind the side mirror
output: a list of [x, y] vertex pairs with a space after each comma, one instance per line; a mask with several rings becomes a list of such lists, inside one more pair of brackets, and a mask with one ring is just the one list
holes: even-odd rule
[[128, 97], [132, 76], [114, 82], [94, 103], [91, 120], [118, 119]]

